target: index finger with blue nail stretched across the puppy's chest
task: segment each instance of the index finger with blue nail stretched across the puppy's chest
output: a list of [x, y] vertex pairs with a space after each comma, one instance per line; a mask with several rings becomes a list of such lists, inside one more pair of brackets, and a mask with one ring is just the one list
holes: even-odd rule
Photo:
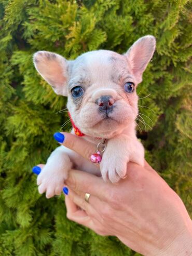
[[[60, 137], [60, 134], [61, 134], [61, 136], [64, 136], [62, 143], [61, 143], [61, 141], [58, 141], [58, 139], [57, 139], [57, 135], [58, 135], [58, 137]], [[76, 153], [78, 153], [79, 155], [83, 156], [84, 158], [86, 158], [88, 160], [90, 160], [91, 155], [94, 154], [95, 150], [96, 150], [95, 144], [93, 144], [87, 140], [84, 140], [72, 133], [57, 132], [54, 134], [54, 139], [56, 139], [58, 142], [60, 142], [60, 144], [62, 144], [63, 146], [68, 147], [68, 149], [75, 151]]]

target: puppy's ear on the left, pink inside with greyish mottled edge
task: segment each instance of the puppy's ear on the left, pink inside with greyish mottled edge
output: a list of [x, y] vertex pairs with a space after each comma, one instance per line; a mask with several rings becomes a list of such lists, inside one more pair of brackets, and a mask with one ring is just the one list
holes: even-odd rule
[[67, 60], [57, 53], [37, 51], [33, 62], [38, 73], [58, 95], [67, 96]]

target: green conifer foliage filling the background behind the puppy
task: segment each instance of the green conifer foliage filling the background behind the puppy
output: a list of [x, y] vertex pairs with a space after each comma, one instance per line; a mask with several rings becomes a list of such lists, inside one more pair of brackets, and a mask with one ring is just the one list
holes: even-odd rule
[[[138, 137], [146, 159], [192, 213], [191, 10], [188, 0], [0, 1], [0, 255], [130, 256], [66, 218], [64, 197], [39, 195], [31, 168], [58, 146], [66, 99], [37, 75], [32, 55], [76, 58], [95, 49], [127, 51], [152, 34], [157, 49], [138, 87]], [[144, 124], [146, 123], [146, 125]], [[64, 130], [70, 130], [70, 125]]]

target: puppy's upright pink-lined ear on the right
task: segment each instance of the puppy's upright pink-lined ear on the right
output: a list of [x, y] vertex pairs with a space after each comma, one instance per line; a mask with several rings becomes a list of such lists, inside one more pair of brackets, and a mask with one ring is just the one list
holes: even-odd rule
[[135, 75], [138, 84], [142, 82], [142, 74], [153, 56], [155, 46], [155, 37], [152, 35], [146, 35], [139, 38], [125, 54], [131, 71]]

